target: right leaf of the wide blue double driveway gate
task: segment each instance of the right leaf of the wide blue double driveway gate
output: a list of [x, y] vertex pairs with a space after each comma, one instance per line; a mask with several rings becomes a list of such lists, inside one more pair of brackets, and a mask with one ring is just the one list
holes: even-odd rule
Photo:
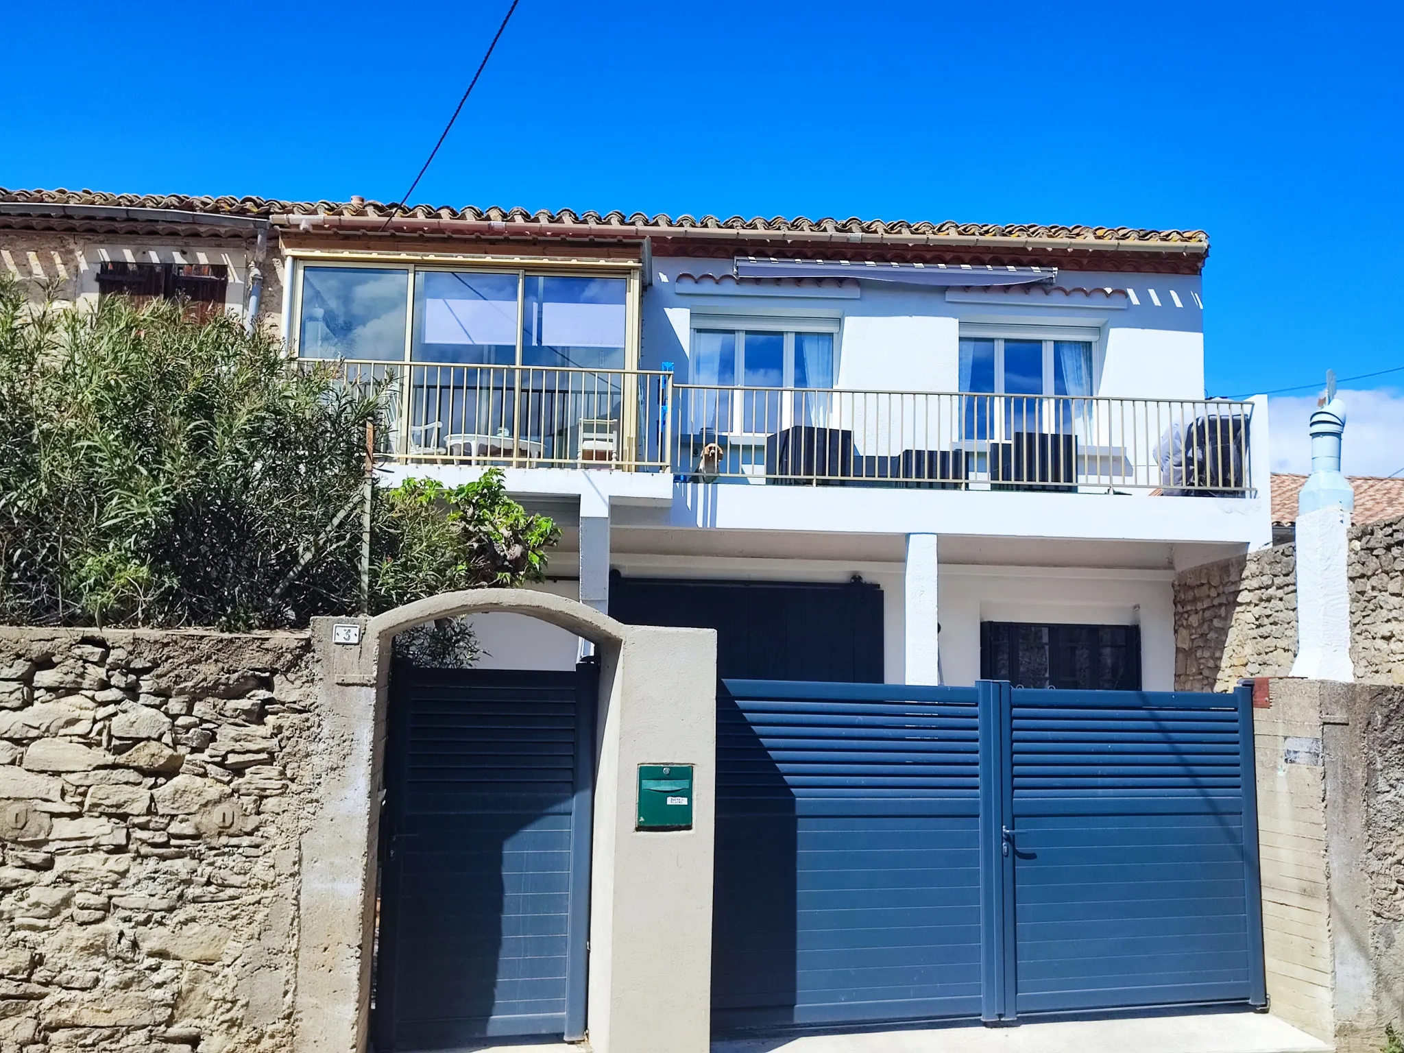
[[1009, 692], [1018, 1011], [1261, 1001], [1251, 712], [1068, 694]]

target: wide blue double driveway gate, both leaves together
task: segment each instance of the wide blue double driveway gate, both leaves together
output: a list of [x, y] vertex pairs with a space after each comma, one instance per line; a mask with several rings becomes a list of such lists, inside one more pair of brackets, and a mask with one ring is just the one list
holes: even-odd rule
[[1262, 1005], [1252, 788], [1245, 691], [729, 680], [713, 1026]]

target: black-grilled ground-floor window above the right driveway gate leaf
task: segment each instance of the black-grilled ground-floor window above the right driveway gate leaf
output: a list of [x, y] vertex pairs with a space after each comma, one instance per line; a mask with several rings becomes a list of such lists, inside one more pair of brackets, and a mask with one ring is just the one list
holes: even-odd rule
[[1016, 688], [1140, 691], [1140, 628], [981, 622], [980, 675]]

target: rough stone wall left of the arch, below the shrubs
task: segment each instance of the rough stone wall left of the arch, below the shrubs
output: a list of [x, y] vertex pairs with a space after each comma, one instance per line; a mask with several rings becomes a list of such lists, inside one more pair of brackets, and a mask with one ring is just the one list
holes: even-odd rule
[[292, 1047], [307, 635], [0, 629], [0, 1053]]

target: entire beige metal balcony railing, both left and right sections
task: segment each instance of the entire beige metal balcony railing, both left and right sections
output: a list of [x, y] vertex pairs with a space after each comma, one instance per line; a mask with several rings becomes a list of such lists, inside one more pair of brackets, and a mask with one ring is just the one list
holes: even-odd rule
[[1252, 403], [674, 383], [673, 373], [340, 362], [379, 392], [379, 453], [681, 482], [1254, 493]]

